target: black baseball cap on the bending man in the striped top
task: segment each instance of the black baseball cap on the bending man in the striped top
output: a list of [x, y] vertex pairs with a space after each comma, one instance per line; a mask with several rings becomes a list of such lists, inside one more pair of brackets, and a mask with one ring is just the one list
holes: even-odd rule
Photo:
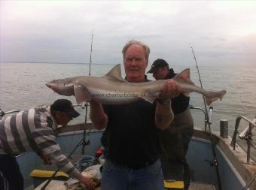
[[72, 118], [80, 116], [80, 113], [74, 109], [72, 102], [67, 99], [58, 99], [54, 101], [50, 108], [55, 111], [67, 113], [69, 116], [72, 116]]

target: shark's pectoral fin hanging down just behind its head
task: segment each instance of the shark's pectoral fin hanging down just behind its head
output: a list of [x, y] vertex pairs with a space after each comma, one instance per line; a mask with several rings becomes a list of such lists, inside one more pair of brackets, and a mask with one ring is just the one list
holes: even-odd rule
[[74, 92], [75, 92], [75, 100], [77, 101], [78, 104], [83, 104], [84, 102], [90, 101], [92, 99], [92, 96], [90, 95], [90, 93], [81, 84], [74, 85]]

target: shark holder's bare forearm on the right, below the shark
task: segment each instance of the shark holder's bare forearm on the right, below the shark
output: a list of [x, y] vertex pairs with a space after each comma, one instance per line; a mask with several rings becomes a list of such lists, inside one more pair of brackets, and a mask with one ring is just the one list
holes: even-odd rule
[[169, 127], [173, 119], [173, 112], [171, 107], [171, 101], [167, 101], [166, 103], [162, 104], [157, 101], [157, 108], [155, 113], [155, 124], [157, 128], [165, 130]]

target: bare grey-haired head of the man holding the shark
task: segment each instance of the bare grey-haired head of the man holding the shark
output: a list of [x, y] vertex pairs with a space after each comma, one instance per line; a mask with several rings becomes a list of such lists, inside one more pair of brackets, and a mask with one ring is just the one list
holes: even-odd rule
[[122, 50], [126, 80], [144, 82], [150, 49], [140, 41], [129, 41]]

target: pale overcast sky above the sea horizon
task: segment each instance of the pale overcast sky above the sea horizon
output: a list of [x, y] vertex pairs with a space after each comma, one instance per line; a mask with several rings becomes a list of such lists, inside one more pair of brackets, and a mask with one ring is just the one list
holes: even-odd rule
[[0, 62], [123, 62], [127, 41], [149, 64], [256, 68], [256, 1], [2, 1]]

